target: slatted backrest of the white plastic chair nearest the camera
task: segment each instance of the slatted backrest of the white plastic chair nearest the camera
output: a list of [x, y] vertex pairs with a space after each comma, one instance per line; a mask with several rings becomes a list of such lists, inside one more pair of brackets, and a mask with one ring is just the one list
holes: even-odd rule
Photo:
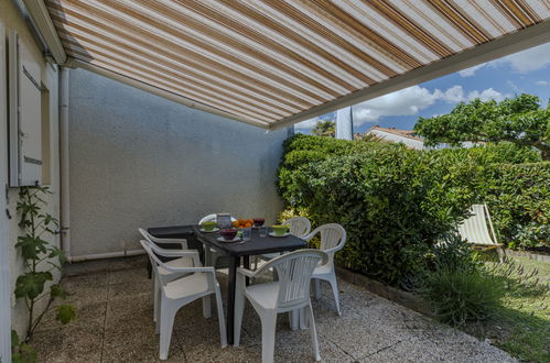
[[309, 301], [310, 280], [315, 267], [325, 264], [328, 255], [319, 250], [300, 250], [281, 255], [263, 265], [279, 276], [278, 308], [288, 309]]

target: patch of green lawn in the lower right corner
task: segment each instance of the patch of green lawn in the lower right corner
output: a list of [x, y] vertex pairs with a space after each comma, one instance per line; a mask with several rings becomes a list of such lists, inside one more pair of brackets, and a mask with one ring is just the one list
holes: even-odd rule
[[550, 263], [527, 257], [510, 260], [521, 264], [526, 272], [537, 270], [540, 283], [510, 288], [496, 318], [464, 329], [481, 339], [489, 339], [521, 361], [550, 362], [550, 294], [540, 288], [550, 284]]

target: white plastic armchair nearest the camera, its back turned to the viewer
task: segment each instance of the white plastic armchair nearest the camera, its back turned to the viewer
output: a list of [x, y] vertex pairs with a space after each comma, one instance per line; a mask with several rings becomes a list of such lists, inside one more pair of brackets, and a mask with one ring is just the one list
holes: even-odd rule
[[[327, 261], [327, 254], [322, 251], [301, 250], [273, 258], [255, 272], [238, 268], [235, 297], [235, 346], [238, 346], [240, 342], [246, 296], [261, 319], [262, 363], [273, 362], [277, 315], [280, 312], [296, 315], [300, 309], [306, 310], [313, 356], [320, 361], [317, 332], [310, 299], [310, 283], [315, 267], [324, 265]], [[271, 268], [277, 270], [279, 280], [246, 286], [246, 277], [257, 277]]]

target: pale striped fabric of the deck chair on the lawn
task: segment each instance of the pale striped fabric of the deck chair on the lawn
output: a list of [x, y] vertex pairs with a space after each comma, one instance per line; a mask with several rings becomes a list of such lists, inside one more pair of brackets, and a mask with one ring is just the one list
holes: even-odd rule
[[[468, 243], [473, 244], [497, 244], [495, 231], [486, 205], [473, 205], [470, 209], [470, 218], [459, 224], [459, 233]], [[487, 222], [489, 226], [487, 226]], [[493, 232], [493, 238], [489, 233]]]

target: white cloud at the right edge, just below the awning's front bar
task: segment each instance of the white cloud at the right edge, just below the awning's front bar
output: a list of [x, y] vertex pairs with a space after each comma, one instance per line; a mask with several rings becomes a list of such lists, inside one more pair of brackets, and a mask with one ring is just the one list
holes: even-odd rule
[[483, 67], [498, 68], [500, 66], [509, 66], [514, 72], [527, 74], [529, 72], [544, 68], [550, 64], [550, 43], [546, 43], [522, 52], [507, 55], [503, 58], [495, 59], [488, 63], [483, 63], [459, 72], [461, 77], [472, 77]]

